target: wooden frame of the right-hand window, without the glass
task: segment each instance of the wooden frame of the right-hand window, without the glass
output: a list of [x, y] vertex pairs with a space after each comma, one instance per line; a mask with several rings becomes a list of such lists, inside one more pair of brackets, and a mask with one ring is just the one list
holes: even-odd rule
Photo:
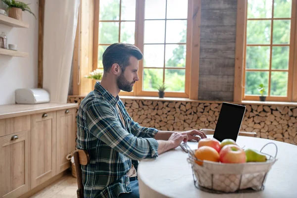
[[[235, 54], [235, 77], [234, 77], [234, 101], [242, 100], [259, 100], [258, 96], [245, 95], [245, 64], [246, 64], [246, 32], [247, 32], [247, 0], [237, 1], [237, 29], [236, 29], [236, 54]], [[272, 4], [273, 5], [273, 4]], [[273, 11], [272, 11], [273, 14]], [[272, 15], [273, 17], [273, 15]], [[290, 35], [290, 52], [289, 52], [289, 68], [288, 68], [288, 95], [287, 97], [271, 97], [267, 96], [267, 101], [297, 101], [297, 0], [292, 0], [292, 15], [291, 15], [291, 35]], [[275, 19], [272, 18], [272, 21]], [[272, 22], [273, 23], [273, 22]], [[271, 37], [273, 26], [271, 26]], [[259, 45], [257, 45], [259, 46]], [[272, 46], [270, 49], [270, 68], [272, 61]], [[260, 70], [257, 70], [260, 71]], [[281, 70], [277, 70], [281, 71]], [[270, 87], [269, 76], [269, 87]], [[270, 89], [268, 90], [270, 94]]]

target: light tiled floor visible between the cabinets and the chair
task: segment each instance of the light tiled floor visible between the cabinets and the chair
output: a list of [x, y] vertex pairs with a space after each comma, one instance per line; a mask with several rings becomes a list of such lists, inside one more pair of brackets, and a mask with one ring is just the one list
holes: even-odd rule
[[76, 178], [69, 173], [31, 198], [77, 198], [76, 190]]

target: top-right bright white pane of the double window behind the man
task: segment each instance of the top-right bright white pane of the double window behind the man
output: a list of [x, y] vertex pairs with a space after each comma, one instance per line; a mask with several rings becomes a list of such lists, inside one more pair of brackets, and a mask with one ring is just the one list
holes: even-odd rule
[[188, 0], [167, 0], [167, 19], [187, 19]]

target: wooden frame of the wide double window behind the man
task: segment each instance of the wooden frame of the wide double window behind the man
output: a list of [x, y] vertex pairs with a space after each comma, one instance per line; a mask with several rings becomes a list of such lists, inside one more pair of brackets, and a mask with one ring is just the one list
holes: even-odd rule
[[[136, 0], [135, 19], [135, 46], [141, 51], [144, 49], [144, 8], [145, 0]], [[143, 11], [143, 12], [142, 12]], [[165, 97], [198, 99], [198, 72], [200, 49], [200, 13], [201, 0], [188, 0], [187, 41], [186, 41], [186, 73], [185, 92], [165, 92]], [[94, 0], [94, 43], [93, 43], [93, 70], [98, 65], [98, 38], [99, 37], [99, 0]], [[193, 55], [195, 54], [195, 55]], [[120, 92], [120, 96], [157, 97], [158, 92], [142, 90], [143, 60], [139, 62], [139, 82], [134, 85], [133, 91]], [[90, 71], [89, 71], [90, 72]], [[165, 74], [164, 74], [165, 75]], [[187, 80], [189, 79], [189, 80]], [[95, 81], [93, 82], [93, 85]], [[77, 92], [76, 92], [77, 93]]]

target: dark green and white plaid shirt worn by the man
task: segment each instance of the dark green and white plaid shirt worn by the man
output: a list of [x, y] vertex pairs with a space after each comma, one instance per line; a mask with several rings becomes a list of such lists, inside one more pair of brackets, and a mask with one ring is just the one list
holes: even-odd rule
[[153, 139], [157, 132], [134, 122], [119, 97], [96, 83], [77, 114], [77, 148], [90, 155], [90, 164], [82, 165], [84, 196], [117, 198], [120, 193], [132, 192], [126, 173], [132, 163], [137, 169], [137, 160], [158, 156], [158, 143]]

